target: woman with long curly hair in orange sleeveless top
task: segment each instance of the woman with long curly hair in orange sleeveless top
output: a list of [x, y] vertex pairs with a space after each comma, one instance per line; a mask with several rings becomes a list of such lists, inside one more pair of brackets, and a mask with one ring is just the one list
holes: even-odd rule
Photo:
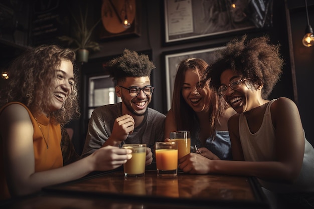
[[0, 94], [0, 199], [114, 169], [131, 157], [107, 146], [63, 166], [61, 126], [80, 115], [74, 61], [73, 50], [39, 46], [10, 66]]

